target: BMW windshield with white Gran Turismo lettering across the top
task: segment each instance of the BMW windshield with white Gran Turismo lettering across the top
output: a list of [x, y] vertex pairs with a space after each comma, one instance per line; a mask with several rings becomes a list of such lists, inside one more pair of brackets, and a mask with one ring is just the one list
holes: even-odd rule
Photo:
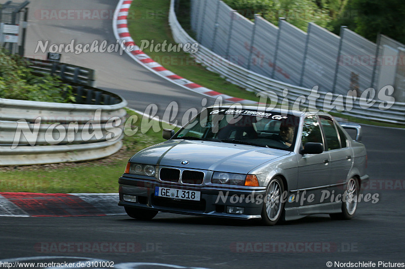
[[299, 118], [256, 110], [208, 109], [173, 139], [207, 140], [292, 151]]

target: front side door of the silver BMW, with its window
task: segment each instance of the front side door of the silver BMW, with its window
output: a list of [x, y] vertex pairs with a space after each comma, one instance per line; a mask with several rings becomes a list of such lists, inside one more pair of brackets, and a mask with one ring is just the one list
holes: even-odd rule
[[[322, 143], [323, 136], [316, 116], [307, 116], [303, 121], [301, 142], [304, 146], [307, 142]], [[321, 190], [330, 184], [330, 155], [328, 151], [319, 154], [298, 154], [298, 190], [301, 195], [308, 197], [314, 194], [314, 201], [305, 200], [300, 205], [315, 204], [320, 202]]]

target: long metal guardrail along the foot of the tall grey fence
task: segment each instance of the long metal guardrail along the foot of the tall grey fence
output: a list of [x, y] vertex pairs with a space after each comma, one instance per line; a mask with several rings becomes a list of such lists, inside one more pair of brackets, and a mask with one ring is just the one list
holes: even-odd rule
[[[195, 39], [191, 38], [187, 34], [187, 32], [181, 27], [180, 23], [178, 22], [175, 13], [175, 0], [171, 0], [169, 24], [176, 42], [183, 44], [197, 43]], [[260, 92], [265, 95], [269, 95], [268, 92], [271, 91], [278, 96], [279, 100], [282, 100], [285, 97], [283, 95], [284, 90], [288, 89], [287, 97], [293, 102], [298, 97], [308, 97], [311, 93], [311, 89], [282, 83], [240, 67], [222, 58], [221, 56], [217, 55], [201, 44], [198, 45], [198, 51], [196, 53], [193, 53], [192, 56], [195, 58], [196, 62], [206, 66], [208, 70], [220, 74], [221, 76], [225, 77], [227, 81], [244, 87], [249, 91], [254, 91], [257, 93]], [[316, 99], [316, 107], [318, 108], [322, 108], [325, 103], [328, 103], [328, 101], [329, 103], [331, 103], [331, 99], [336, 105], [335, 109], [332, 110], [333, 112], [339, 112], [344, 115], [355, 116], [363, 119], [405, 124], [405, 103], [403, 102], [395, 102], [388, 110], [382, 111], [378, 106], [381, 103], [384, 103], [383, 101], [375, 102], [374, 105], [366, 109], [364, 107], [368, 105], [360, 106], [359, 102], [366, 104], [370, 102], [370, 100], [368, 100], [367, 98], [357, 97], [356, 100], [353, 101], [350, 111], [347, 111], [347, 105], [345, 105], [347, 98], [345, 96], [326, 92], [317, 93], [319, 94], [319, 97]], [[305, 102], [301, 103], [301, 107], [308, 106], [308, 104], [309, 101], [308, 98], [306, 98]], [[349, 104], [349, 106], [351, 105]], [[343, 108], [343, 110], [337, 110], [336, 108]]]

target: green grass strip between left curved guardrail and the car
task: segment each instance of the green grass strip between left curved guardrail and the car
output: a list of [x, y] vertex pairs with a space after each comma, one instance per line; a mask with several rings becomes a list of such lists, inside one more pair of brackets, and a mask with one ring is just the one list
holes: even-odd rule
[[[135, 114], [128, 112], [128, 117]], [[131, 129], [140, 128], [142, 116], [137, 116], [138, 121]], [[163, 127], [168, 126], [163, 124]], [[118, 178], [124, 173], [128, 159], [137, 151], [163, 141], [161, 132], [156, 133], [151, 128], [142, 134], [138, 129], [134, 136], [125, 136], [123, 149], [100, 160], [15, 169], [0, 167], [0, 192], [115, 193], [118, 192]]]

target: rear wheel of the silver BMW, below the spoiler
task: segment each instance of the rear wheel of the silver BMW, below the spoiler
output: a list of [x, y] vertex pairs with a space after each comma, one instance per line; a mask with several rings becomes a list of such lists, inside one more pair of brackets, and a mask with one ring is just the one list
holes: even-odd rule
[[350, 220], [357, 209], [358, 181], [351, 178], [346, 184], [346, 190], [342, 199], [342, 212], [329, 214], [333, 220]]

